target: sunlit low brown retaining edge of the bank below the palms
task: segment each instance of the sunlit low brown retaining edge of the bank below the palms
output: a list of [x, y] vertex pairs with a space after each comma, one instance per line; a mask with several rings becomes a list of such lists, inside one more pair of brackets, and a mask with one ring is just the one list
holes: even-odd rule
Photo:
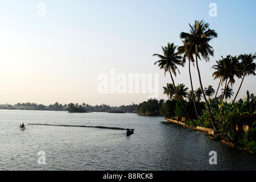
[[175, 123], [177, 125], [182, 125], [182, 126], [188, 127], [188, 128], [190, 128], [192, 130], [202, 131], [204, 133], [209, 134], [209, 136], [211, 138], [215, 139], [215, 140], [221, 140], [222, 143], [227, 144], [227, 145], [229, 145], [231, 147], [235, 147], [234, 139], [219, 133], [219, 131], [216, 131], [214, 129], [209, 129], [207, 127], [202, 127], [202, 126], [196, 126], [196, 127], [195, 126], [191, 126], [191, 125], [188, 125], [186, 122], [183, 122], [183, 121], [177, 121], [177, 120], [169, 119], [169, 118], [165, 118], [165, 119], [167, 121]]

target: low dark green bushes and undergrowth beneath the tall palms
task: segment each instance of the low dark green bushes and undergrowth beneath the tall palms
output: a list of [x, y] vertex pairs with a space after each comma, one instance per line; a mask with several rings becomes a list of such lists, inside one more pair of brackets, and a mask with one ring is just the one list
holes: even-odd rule
[[[211, 88], [211, 86], [208, 88]], [[205, 91], [206, 90], [207, 88], [205, 88]], [[233, 142], [237, 144], [238, 148], [256, 153], [256, 96], [247, 91], [243, 99], [229, 103], [221, 100], [222, 94], [217, 98], [213, 98], [214, 92], [212, 89], [211, 91], [208, 102], [213, 121], [218, 127], [218, 133], [232, 139]], [[195, 123], [197, 126], [214, 129], [209, 119], [209, 112], [206, 109], [205, 102], [196, 101], [195, 105], [199, 117], [201, 118], [201, 125], [197, 119], [197, 114], [195, 114], [194, 102], [189, 93], [191, 92], [187, 92], [187, 94], [183, 96], [184, 100], [182, 100], [182, 103], [193, 119], [193, 122], [189, 119], [186, 119], [185, 122], [191, 126]], [[173, 97], [173, 99], [166, 101], [148, 100], [142, 102], [138, 105], [138, 113], [141, 115], [162, 115], [165, 118], [184, 121], [183, 119], [186, 118], [186, 113], [178, 97], [175, 97], [175, 94], [168, 94], [168, 96]], [[249, 126], [246, 130], [245, 125]]]

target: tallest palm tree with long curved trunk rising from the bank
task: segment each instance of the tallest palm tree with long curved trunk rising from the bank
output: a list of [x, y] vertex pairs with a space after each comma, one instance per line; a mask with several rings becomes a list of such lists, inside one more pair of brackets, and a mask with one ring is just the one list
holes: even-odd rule
[[209, 55], [213, 56], [213, 47], [209, 45], [209, 42], [213, 38], [217, 38], [218, 34], [215, 32], [215, 30], [211, 30], [209, 28], [209, 23], [205, 23], [203, 20], [200, 22], [195, 20], [195, 23], [193, 26], [189, 24], [190, 26], [190, 33], [181, 32], [180, 38], [187, 40], [185, 41], [186, 44], [190, 44], [188, 47], [194, 47], [194, 55], [195, 55], [195, 64], [197, 66], [197, 72], [198, 72], [198, 78], [199, 78], [199, 84], [202, 90], [203, 98], [205, 99], [207, 111], [209, 113], [211, 124], [213, 125], [214, 129], [217, 130], [217, 127], [215, 126], [215, 123], [211, 116], [211, 111], [209, 104], [207, 102], [205, 93], [203, 91], [203, 85], [201, 80], [201, 75], [198, 67], [198, 59], [201, 59], [199, 55], [202, 56], [203, 59], [206, 61], [209, 61]]

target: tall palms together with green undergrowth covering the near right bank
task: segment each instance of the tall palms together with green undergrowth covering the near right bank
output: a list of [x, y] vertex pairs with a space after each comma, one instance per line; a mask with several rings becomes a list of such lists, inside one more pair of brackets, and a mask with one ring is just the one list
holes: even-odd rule
[[[213, 38], [217, 38], [218, 34], [211, 30], [209, 24], [203, 20], [196, 20], [189, 26], [189, 33], [181, 32], [180, 34], [182, 46], [177, 47], [174, 46], [174, 43], [168, 43], [166, 47], [162, 47], [163, 55], [156, 53], [153, 55], [160, 59], [154, 64], [158, 64], [158, 67], [164, 70], [165, 76], [166, 72], [169, 72], [172, 82], [163, 87], [163, 93], [167, 95], [168, 100], [163, 102], [159, 114], [166, 118], [182, 119], [183, 121], [186, 118], [186, 122], [190, 125], [215, 129], [235, 140], [239, 147], [249, 148], [256, 152], [256, 97], [247, 91], [247, 97], [235, 101], [245, 77], [256, 75], [256, 64], [254, 63], [256, 53], [254, 55], [244, 53], [239, 56], [221, 56], [222, 59], [216, 61], [217, 64], [212, 67], [215, 69], [214, 80], [219, 79], [217, 92], [211, 85], [203, 88], [198, 59], [209, 61], [209, 56], [214, 56], [213, 47], [209, 45], [209, 42]], [[178, 51], [175, 51], [176, 48]], [[181, 74], [178, 66], [184, 67], [186, 60], [189, 62], [191, 90], [188, 90], [183, 84], [175, 86], [174, 81], [177, 71]], [[193, 88], [190, 63], [195, 64], [198, 72], [200, 87], [196, 90]], [[235, 77], [242, 78], [242, 81], [233, 98]], [[223, 86], [222, 92], [217, 97], [220, 86]], [[214, 93], [215, 97], [213, 98]], [[233, 100], [228, 103], [227, 100], [230, 98]], [[201, 99], [204, 102], [201, 102]], [[143, 110], [147, 109], [143, 107]]]

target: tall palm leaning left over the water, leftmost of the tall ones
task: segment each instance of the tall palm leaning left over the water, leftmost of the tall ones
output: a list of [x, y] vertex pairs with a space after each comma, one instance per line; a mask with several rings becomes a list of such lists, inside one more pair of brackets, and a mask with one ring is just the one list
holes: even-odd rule
[[[173, 82], [175, 93], [177, 94], [178, 99], [181, 102], [181, 105], [182, 105], [183, 109], [185, 110], [185, 113], [187, 114], [187, 117], [189, 117], [190, 121], [193, 122], [190, 115], [187, 113], [185, 106], [182, 103], [181, 97], [179, 97], [178, 91], [175, 86], [175, 82], [173, 80], [173, 75], [176, 77], [177, 76], [176, 71], [179, 72], [177, 65], [181, 65], [182, 67], [184, 66], [184, 64], [182, 63], [182, 56], [179, 56], [178, 52], [175, 52], [176, 48], [177, 48], [177, 46], [175, 46], [174, 43], [171, 43], [171, 44], [168, 43], [167, 46], [162, 47], [163, 55], [159, 55], [157, 53], [155, 53], [153, 55], [153, 56], [157, 56], [160, 58], [160, 60], [156, 61], [154, 63], [154, 65], [158, 64], [158, 67], [160, 69], [164, 69], [165, 76], [166, 76], [166, 72], [170, 73], [171, 81]], [[173, 74], [171, 74], [171, 73], [173, 73]], [[193, 122], [193, 124], [195, 125], [194, 122]], [[197, 125], [195, 125], [195, 126], [197, 126]]]

